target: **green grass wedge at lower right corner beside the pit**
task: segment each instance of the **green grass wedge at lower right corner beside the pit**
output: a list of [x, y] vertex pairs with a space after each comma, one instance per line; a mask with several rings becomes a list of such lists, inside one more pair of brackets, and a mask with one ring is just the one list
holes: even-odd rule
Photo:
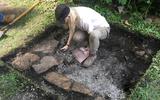
[[153, 63], [144, 77], [132, 90], [130, 100], [159, 100], [160, 99], [160, 51], [153, 58]]

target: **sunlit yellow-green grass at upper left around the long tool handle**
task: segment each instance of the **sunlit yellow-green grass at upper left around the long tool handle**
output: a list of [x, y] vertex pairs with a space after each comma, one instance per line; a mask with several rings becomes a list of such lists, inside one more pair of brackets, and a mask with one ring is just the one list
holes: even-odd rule
[[[29, 8], [38, 0], [0, 0], [13, 7]], [[54, 13], [51, 11], [53, 2], [42, 2], [36, 8], [20, 19], [8, 32], [7, 37], [0, 39], [0, 57], [23, 47], [33, 38], [41, 35], [44, 29], [53, 24]], [[49, 10], [50, 9], [50, 10]]]

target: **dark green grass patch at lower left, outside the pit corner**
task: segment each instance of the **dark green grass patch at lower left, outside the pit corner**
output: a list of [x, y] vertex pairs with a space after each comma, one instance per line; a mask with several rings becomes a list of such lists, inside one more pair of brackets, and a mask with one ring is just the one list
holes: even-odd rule
[[9, 100], [13, 95], [28, 84], [17, 71], [6, 68], [6, 64], [0, 61], [0, 100]]

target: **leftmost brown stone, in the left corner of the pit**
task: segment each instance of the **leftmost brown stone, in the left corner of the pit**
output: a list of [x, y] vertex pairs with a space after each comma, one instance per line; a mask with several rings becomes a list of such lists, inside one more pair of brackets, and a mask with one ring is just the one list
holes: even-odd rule
[[12, 65], [16, 69], [24, 71], [29, 69], [30, 66], [38, 60], [40, 60], [40, 57], [38, 55], [32, 53], [25, 53], [24, 55], [17, 56], [12, 62]]

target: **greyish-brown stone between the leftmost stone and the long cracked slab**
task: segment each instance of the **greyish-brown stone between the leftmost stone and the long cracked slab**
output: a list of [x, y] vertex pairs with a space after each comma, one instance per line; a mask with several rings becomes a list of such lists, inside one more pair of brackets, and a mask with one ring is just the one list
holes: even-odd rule
[[40, 64], [33, 65], [32, 67], [38, 74], [40, 74], [46, 72], [55, 65], [61, 64], [62, 62], [62, 60], [58, 60], [53, 56], [45, 56], [41, 59]]

